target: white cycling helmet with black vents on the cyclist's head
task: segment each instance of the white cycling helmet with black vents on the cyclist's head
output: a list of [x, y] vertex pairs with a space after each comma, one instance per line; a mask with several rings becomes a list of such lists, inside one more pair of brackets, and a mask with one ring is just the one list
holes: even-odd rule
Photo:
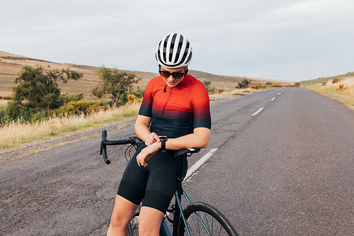
[[171, 33], [161, 39], [155, 57], [163, 67], [185, 67], [192, 60], [192, 47], [181, 33]]

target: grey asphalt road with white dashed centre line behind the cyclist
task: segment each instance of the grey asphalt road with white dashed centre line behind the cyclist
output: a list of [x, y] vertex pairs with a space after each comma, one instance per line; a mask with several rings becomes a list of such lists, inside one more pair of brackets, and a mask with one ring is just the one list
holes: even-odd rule
[[[261, 109], [263, 108], [263, 109]], [[302, 88], [212, 105], [212, 137], [185, 181], [240, 235], [354, 235], [354, 112]], [[258, 111], [258, 113], [257, 113]], [[127, 137], [132, 127], [108, 133]], [[0, 235], [104, 235], [126, 161], [99, 136], [0, 165]]]

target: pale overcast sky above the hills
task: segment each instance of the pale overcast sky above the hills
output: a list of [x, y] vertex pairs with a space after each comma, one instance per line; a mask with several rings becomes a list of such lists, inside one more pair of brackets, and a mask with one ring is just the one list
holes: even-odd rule
[[1, 0], [0, 51], [157, 72], [182, 33], [189, 69], [299, 82], [354, 72], [353, 0]]

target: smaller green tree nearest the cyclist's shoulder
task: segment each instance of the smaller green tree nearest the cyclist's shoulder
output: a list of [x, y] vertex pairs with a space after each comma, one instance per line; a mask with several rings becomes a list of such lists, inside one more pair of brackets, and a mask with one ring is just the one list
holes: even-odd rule
[[105, 67], [98, 70], [98, 76], [102, 79], [102, 84], [96, 85], [92, 94], [98, 97], [103, 94], [108, 95], [114, 106], [118, 105], [121, 96], [127, 95], [128, 91], [132, 89], [132, 84], [136, 84], [141, 79], [132, 72]]

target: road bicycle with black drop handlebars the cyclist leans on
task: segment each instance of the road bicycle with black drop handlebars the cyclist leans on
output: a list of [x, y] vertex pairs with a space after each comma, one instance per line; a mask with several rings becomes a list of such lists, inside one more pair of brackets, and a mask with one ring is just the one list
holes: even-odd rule
[[[107, 131], [102, 131], [101, 151], [104, 162], [110, 164], [110, 159], [107, 155], [107, 145], [126, 145], [130, 144], [125, 150], [125, 159], [129, 161], [130, 151], [132, 147], [137, 149], [142, 140], [139, 137], [130, 137], [125, 140], [108, 140]], [[181, 235], [238, 235], [232, 224], [217, 208], [211, 206], [208, 203], [193, 202], [188, 198], [187, 193], [183, 190], [183, 160], [190, 157], [193, 153], [199, 152], [200, 149], [188, 148], [177, 150], [175, 157], [178, 159], [178, 171], [177, 171], [177, 189], [175, 192], [175, 204], [169, 208], [165, 214], [164, 220], [161, 223], [160, 235], [161, 236], [181, 236]], [[129, 157], [127, 157], [129, 155]], [[181, 204], [181, 196], [184, 196], [188, 205], [183, 209]], [[128, 235], [138, 235], [138, 220], [139, 209], [137, 208], [132, 220], [128, 225]], [[173, 218], [169, 217], [173, 214]], [[169, 223], [172, 225], [172, 233], [170, 231]]]

